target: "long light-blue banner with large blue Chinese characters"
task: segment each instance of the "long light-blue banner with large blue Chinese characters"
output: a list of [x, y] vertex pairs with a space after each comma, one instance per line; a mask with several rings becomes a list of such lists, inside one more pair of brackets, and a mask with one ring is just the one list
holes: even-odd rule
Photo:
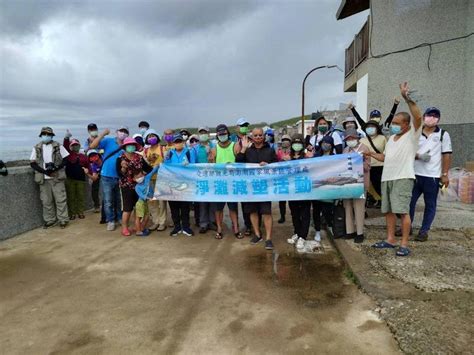
[[342, 154], [257, 164], [162, 164], [155, 199], [201, 202], [364, 197], [362, 156]]

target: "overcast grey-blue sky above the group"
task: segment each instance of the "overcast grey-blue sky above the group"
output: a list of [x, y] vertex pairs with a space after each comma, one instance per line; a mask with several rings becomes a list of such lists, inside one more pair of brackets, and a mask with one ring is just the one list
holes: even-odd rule
[[[336, 21], [337, 0], [0, 3], [2, 145], [43, 125], [62, 135], [89, 122], [162, 131], [296, 116], [305, 73], [344, 68], [367, 17]], [[307, 112], [351, 98], [336, 69], [307, 81]]]

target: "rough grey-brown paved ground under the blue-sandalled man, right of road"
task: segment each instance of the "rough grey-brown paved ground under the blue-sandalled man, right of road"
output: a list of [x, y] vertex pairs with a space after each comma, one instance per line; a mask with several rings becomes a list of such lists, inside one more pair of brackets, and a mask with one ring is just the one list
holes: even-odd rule
[[[415, 227], [421, 222], [419, 207]], [[467, 354], [474, 349], [473, 210], [473, 205], [441, 203], [428, 242], [411, 242], [408, 258], [370, 247], [385, 236], [382, 217], [373, 210], [364, 244], [337, 240], [406, 353]]]

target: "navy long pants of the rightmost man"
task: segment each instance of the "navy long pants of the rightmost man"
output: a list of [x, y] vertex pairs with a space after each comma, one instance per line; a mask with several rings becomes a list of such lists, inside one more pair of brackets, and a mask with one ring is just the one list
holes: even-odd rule
[[420, 233], [428, 232], [436, 215], [436, 202], [439, 191], [439, 179], [427, 176], [415, 175], [415, 184], [411, 194], [410, 202], [410, 218], [411, 223], [415, 218], [416, 202], [423, 194], [425, 200], [425, 211], [423, 212], [423, 222], [421, 224]]

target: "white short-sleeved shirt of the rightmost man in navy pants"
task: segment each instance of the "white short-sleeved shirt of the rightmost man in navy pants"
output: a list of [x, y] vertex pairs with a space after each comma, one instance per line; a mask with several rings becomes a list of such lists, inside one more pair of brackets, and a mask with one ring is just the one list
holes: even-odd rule
[[441, 142], [441, 128], [436, 130], [428, 137], [424, 133], [420, 135], [418, 141], [418, 154], [428, 153], [431, 156], [430, 161], [415, 160], [415, 174], [426, 177], [439, 178], [441, 176], [441, 158], [442, 154], [452, 153], [451, 137], [444, 131], [443, 141]]

